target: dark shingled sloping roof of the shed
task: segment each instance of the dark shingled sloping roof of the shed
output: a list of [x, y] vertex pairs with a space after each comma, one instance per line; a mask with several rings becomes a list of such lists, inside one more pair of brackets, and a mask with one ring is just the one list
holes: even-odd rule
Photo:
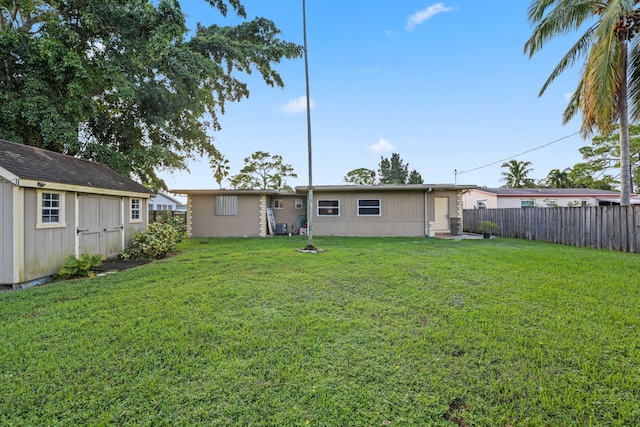
[[65, 184], [86, 190], [152, 193], [101, 163], [3, 139], [0, 139], [0, 176], [16, 185], [21, 185], [21, 181], [39, 181], [45, 185]]

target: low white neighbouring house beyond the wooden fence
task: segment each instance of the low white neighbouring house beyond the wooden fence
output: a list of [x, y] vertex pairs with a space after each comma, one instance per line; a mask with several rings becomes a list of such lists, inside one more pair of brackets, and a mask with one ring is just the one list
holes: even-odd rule
[[[464, 209], [603, 206], [620, 204], [617, 191], [591, 188], [485, 188], [464, 192]], [[640, 203], [633, 195], [632, 203]]]

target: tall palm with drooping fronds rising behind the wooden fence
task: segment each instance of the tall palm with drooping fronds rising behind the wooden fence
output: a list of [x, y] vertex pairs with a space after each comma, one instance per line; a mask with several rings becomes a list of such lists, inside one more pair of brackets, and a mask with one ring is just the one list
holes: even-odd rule
[[552, 38], [586, 31], [560, 60], [539, 95], [567, 67], [580, 58], [584, 68], [563, 120], [567, 123], [582, 112], [582, 134], [606, 134], [620, 126], [620, 204], [629, 206], [629, 104], [631, 117], [640, 118], [640, 50], [634, 36], [640, 28], [640, 6], [636, 0], [533, 0], [529, 22], [533, 34], [524, 46], [529, 57]]

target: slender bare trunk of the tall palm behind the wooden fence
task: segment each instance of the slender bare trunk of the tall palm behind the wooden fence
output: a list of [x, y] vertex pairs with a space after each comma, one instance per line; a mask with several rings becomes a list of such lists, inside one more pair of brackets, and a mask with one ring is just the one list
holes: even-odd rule
[[627, 43], [621, 41], [620, 72], [620, 206], [629, 206], [631, 195], [631, 168], [629, 164], [629, 101], [627, 81]]

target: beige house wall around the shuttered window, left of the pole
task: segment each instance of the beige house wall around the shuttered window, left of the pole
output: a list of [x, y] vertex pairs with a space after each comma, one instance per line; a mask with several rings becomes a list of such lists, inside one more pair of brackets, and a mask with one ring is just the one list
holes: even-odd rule
[[259, 237], [260, 196], [238, 195], [238, 215], [214, 215], [214, 195], [192, 195], [191, 235], [193, 237]]

